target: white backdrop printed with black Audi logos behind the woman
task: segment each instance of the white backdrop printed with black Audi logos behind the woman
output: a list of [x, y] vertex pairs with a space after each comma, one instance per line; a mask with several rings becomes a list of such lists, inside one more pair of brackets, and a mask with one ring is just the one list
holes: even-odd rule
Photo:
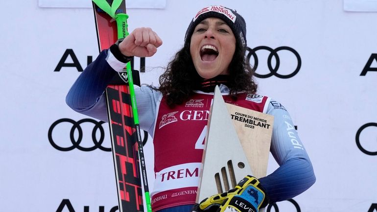
[[[129, 9], [129, 31], [150, 26], [164, 41], [154, 57], [146, 58], [142, 83], [157, 85], [161, 69], [156, 67], [164, 67], [182, 47], [189, 21], [210, 4], [236, 8], [242, 14], [248, 24], [248, 47], [285, 46], [300, 55], [301, 67], [293, 77], [257, 78], [259, 94], [282, 102], [290, 112], [314, 166], [317, 182], [294, 198], [300, 210], [377, 210], [377, 13], [345, 11], [342, 0], [166, 0], [164, 9]], [[72, 49], [82, 68], [88, 56], [98, 55], [92, 9], [40, 8], [37, 0], [2, 5], [1, 211], [115, 212], [111, 153], [99, 148], [59, 151], [47, 137], [52, 123], [61, 118], [88, 118], [65, 104], [80, 72], [75, 67], [54, 70], [67, 49]], [[292, 73], [298, 64], [294, 54], [277, 53], [278, 73]], [[256, 54], [257, 73], [270, 72], [269, 52]], [[70, 56], [65, 62], [72, 61]], [[360, 75], [363, 70], [366, 74]], [[53, 141], [71, 146], [71, 126], [57, 125]], [[102, 146], [110, 147], [108, 126], [102, 126]], [[81, 127], [80, 145], [93, 146], [94, 125], [85, 122]], [[150, 140], [144, 148], [151, 182]], [[276, 167], [270, 160], [268, 172]], [[289, 202], [277, 205], [280, 212], [295, 211]]]

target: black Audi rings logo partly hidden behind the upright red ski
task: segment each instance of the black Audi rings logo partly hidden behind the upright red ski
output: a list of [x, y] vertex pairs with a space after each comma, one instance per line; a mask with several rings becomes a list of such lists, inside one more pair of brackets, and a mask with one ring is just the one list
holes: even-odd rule
[[[66, 147], [66, 146], [63, 146], [63, 145], [60, 145], [60, 142], [58, 144], [57, 141], [55, 141], [53, 139], [53, 131], [54, 129], [62, 124], [62, 123], [69, 123], [71, 124], [71, 129], [67, 131], [67, 133], [69, 133], [69, 138], [71, 140], [71, 144]], [[81, 126], [81, 124], [83, 123], [91, 123], [91, 124], [94, 124], [94, 127], [92, 129], [92, 132], [91, 132], [91, 137], [92, 137], [92, 141], [94, 143], [93, 146], [90, 146], [90, 147], [84, 147], [81, 144], [81, 142], [83, 141], [83, 137], [84, 137], [84, 130]], [[105, 130], [103, 129], [103, 126], [102, 124], [105, 123], [104, 121], [96, 121], [94, 119], [91, 119], [91, 118], [84, 118], [84, 119], [81, 119], [79, 121], [74, 121], [70, 118], [61, 118], [57, 121], [55, 121], [54, 123], [51, 124], [50, 128], [48, 129], [48, 141], [51, 143], [51, 145], [57, 149], [57, 150], [60, 150], [60, 151], [71, 151], [75, 148], [81, 150], [81, 151], [85, 151], [85, 152], [89, 152], [89, 151], [93, 151], [95, 149], [101, 149], [103, 151], [106, 151], [106, 152], [111, 152], [111, 147], [105, 147], [103, 146], [103, 141], [105, 140]], [[61, 128], [59, 128], [61, 129]], [[75, 132], [77, 132], [77, 135], [75, 138]], [[86, 131], [85, 131], [86, 132]], [[99, 132], [99, 139], [97, 139], [97, 133]], [[146, 141], [148, 140], [148, 133], [144, 131], [144, 139], [142, 141], [142, 144], [145, 145]]]

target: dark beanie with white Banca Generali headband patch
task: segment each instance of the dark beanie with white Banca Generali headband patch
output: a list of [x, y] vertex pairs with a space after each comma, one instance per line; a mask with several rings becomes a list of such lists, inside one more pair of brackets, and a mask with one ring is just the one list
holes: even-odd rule
[[219, 18], [231, 27], [236, 40], [242, 47], [246, 47], [246, 23], [245, 20], [239, 15], [236, 10], [229, 9], [224, 6], [214, 5], [201, 9], [188, 25], [185, 44], [191, 40], [191, 35], [197, 24], [206, 18]]

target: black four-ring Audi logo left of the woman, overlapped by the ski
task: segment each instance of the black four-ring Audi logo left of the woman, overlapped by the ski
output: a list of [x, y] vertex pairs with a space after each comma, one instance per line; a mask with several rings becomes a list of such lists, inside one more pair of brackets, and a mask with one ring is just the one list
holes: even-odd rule
[[[55, 149], [63, 152], [71, 151], [73, 149], [79, 149], [84, 152], [90, 152], [95, 149], [111, 152], [110, 145], [103, 145], [103, 142], [105, 141], [105, 130], [103, 128], [103, 123], [105, 122], [96, 121], [91, 118], [84, 118], [78, 121], [72, 120], [71, 118], [61, 118], [53, 122], [48, 129], [48, 141]], [[69, 129], [63, 127], [63, 125], [67, 126], [67, 124], [69, 125]], [[85, 127], [83, 126], [84, 124]], [[58, 133], [66, 134], [67, 137], [58, 138], [58, 136], [53, 136], [54, 134], [56, 135]], [[90, 143], [92, 144], [88, 146], [87, 142], [85, 142], [85, 145], [83, 145], [83, 138], [87, 138], [88, 135], [91, 138]], [[67, 141], [67, 138], [70, 142]], [[144, 131], [144, 138], [142, 140], [143, 146], [147, 140], [148, 133]]]

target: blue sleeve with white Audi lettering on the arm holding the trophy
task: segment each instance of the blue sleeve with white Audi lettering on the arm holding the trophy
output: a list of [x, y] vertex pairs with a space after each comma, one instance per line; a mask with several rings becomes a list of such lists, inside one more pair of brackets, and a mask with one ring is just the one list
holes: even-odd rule
[[287, 110], [279, 102], [271, 100], [267, 114], [274, 116], [270, 151], [280, 166], [259, 181], [270, 203], [274, 203], [304, 192], [314, 184], [315, 175]]

